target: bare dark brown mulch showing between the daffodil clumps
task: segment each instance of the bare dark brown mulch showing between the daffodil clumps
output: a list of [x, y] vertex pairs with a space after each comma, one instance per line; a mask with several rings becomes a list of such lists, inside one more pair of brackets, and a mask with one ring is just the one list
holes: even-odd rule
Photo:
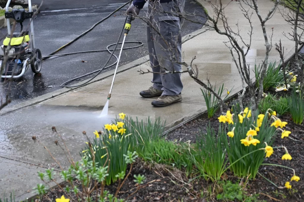
[[[246, 105], [248, 102], [248, 95], [246, 95], [244, 104]], [[169, 141], [177, 142], [195, 142], [196, 137], [200, 132], [206, 133], [209, 124], [215, 131], [218, 130], [219, 120], [217, 117], [219, 116], [220, 114], [216, 113], [215, 116], [210, 119], [198, 118], [192, 120], [168, 134], [167, 139]], [[290, 115], [283, 115], [280, 118], [282, 121], [288, 122], [286, 130], [292, 132], [289, 136], [292, 139], [281, 139], [280, 133], [278, 133], [278, 137], [276, 137], [272, 146], [284, 145], [287, 147], [292, 156], [292, 160], [282, 161], [282, 149], [275, 149], [274, 154], [270, 158], [266, 158], [264, 163], [292, 167], [301, 180], [292, 183], [291, 190], [278, 189], [261, 176], [257, 176], [254, 180], [246, 181], [246, 179], [235, 177], [230, 171], [227, 171], [222, 176], [223, 180], [230, 180], [236, 184], [247, 184], [244, 186], [244, 194], [249, 197], [258, 194], [256, 195], [257, 200], [252, 199], [252, 201], [302, 201], [302, 198], [304, 197], [304, 181], [302, 180], [304, 179], [304, 148], [302, 146], [304, 143], [304, 125], [293, 124]], [[130, 165], [126, 170], [126, 173], [129, 169]], [[290, 170], [282, 167], [261, 166], [259, 172], [276, 185], [282, 187], [284, 187], [285, 182], [292, 177]], [[132, 194], [138, 186], [138, 184], [133, 181], [134, 174], [145, 175], [146, 180], [144, 184], [141, 185], [142, 188], [135, 194]], [[118, 198], [127, 198], [132, 194], [128, 198], [128, 201], [205, 201], [204, 199], [218, 201], [216, 200], [216, 195], [223, 191], [222, 187], [213, 184], [209, 180], [206, 181], [204, 178], [197, 178], [189, 182], [190, 178], [191, 177], [186, 177], [184, 172], [172, 168], [171, 166], [150, 164], [138, 159], [133, 165], [130, 176], [123, 184], [118, 194]], [[77, 180], [74, 183], [77, 184]], [[105, 190], [114, 194], [117, 186], [118, 183], [116, 182], [106, 186]], [[54, 192], [49, 192], [47, 195], [54, 201], [56, 198], [60, 198], [61, 195], [64, 195], [64, 192], [57, 188]], [[94, 194], [92, 195], [92, 198], [94, 198]], [[44, 198], [43, 201], [48, 200]], [[76, 201], [76, 199], [71, 199], [71, 201]]]

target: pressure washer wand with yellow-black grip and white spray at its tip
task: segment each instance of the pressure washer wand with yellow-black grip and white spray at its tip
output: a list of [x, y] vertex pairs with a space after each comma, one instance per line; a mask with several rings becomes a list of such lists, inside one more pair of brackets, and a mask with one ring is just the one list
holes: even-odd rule
[[[132, 21], [132, 16], [131, 14], [129, 13], [128, 16], [127, 16], [127, 20], [126, 20], [126, 24], [125, 24], [125, 31], [124, 31], [124, 37], [123, 37], [123, 43], [121, 45], [121, 48], [120, 48], [120, 52], [119, 52], [119, 56], [118, 56], [118, 61], [116, 63], [116, 68], [115, 68], [115, 71], [114, 71], [114, 75], [113, 75], [113, 80], [112, 80], [112, 84], [111, 84], [111, 88], [110, 88], [110, 92], [108, 94], [108, 100], [107, 102], [105, 103], [105, 106], [103, 107], [102, 109], [102, 112], [100, 114], [100, 117], [103, 117], [103, 116], [107, 116], [108, 115], [108, 109], [109, 109], [109, 100], [111, 98], [111, 93], [112, 93], [112, 88], [113, 88], [113, 85], [114, 85], [114, 81], [115, 81], [115, 77], [116, 77], [116, 73], [117, 73], [117, 68], [118, 68], [118, 65], [119, 65], [119, 61], [120, 61], [120, 56], [121, 56], [121, 53], [123, 51], [123, 45], [125, 44], [125, 41], [126, 41], [126, 36], [129, 34], [129, 31], [131, 29], [131, 21]], [[115, 50], [114, 50], [115, 51]], [[114, 52], [113, 51], [113, 52]]]

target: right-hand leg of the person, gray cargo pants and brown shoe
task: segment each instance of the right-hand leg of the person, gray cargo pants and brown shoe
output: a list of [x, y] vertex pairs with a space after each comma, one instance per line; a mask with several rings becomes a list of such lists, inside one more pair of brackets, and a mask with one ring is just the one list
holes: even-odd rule
[[[184, 0], [169, 3], [157, 3], [153, 26], [157, 28], [153, 37], [156, 56], [161, 66], [160, 72], [181, 71], [181, 22], [180, 18], [170, 12], [182, 11]], [[169, 13], [169, 14], [168, 14]], [[161, 74], [164, 91], [152, 105], [163, 107], [181, 101], [183, 84], [180, 73]]]

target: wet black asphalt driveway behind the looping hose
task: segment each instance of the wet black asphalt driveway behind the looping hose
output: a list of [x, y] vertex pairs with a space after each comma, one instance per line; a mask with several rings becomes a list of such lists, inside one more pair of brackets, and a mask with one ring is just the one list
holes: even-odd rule
[[[40, 4], [40, 2], [40, 0], [33, 1], [34, 4]], [[123, 5], [121, 0], [111, 1], [111, 3], [97, 0], [52, 0], [44, 2], [41, 13], [33, 21], [36, 47], [41, 50], [43, 56], [68, 43], [82, 32], [91, 28], [93, 24], [109, 15], [117, 7]], [[194, 9], [202, 12], [202, 8], [194, 4], [193, 0], [186, 1], [185, 10], [191, 12]], [[87, 35], [59, 53], [105, 49], [107, 45], [116, 43], [124, 20], [123, 13], [117, 12], [115, 17], [113, 16], [99, 24]], [[23, 25], [25, 28], [28, 23], [25, 22]], [[189, 34], [199, 28], [201, 28], [201, 25], [185, 23], [182, 35]], [[16, 30], [19, 30], [19, 27]], [[2, 29], [1, 33], [5, 35], [6, 29]], [[132, 23], [132, 30], [127, 37], [127, 41], [143, 41], [144, 45], [140, 48], [124, 51], [120, 61], [121, 65], [147, 55], [146, 27], [141, 20], [136, 19]], [[125, 47], [136, 45], [138, 43], [126, 44]], [[29, 69], [23, 78], [13, 82], [10, 93], [12, 103], [10, 105], [60, 89], [59, 85], [64, 81], [102, 68], [108, 58], [109, 53], [96, 52], [46, 60], [43, 62], [41, 76], [34, 75]], [[82, 60], [87, 62], [81, 62]], [[109, 64], [115, 61], [116, 59], [113, 57]], [[115, 67], [108, 68], [105, 71], [113, 68]], [[76, 82], [87, 78], [90, 78], [90, 76], [78, 79]], [[0, 85], [0, 97], [5, 96], [7, 87], [8, 85]]]

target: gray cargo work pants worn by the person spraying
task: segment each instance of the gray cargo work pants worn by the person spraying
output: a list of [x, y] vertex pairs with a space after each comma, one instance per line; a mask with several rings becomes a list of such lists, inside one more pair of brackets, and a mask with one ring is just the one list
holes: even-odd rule
[[[149, 2], [147, 18], [147, 46], [153, 72], [153, 87], [162, 90], [162, 95], [178, 95], [183, 89], [181, 71], [181, 19], [170, 13], [183, 12], [185, 0], [169, 3]], [[168, 13], [170, 12], [170, 13]]]

